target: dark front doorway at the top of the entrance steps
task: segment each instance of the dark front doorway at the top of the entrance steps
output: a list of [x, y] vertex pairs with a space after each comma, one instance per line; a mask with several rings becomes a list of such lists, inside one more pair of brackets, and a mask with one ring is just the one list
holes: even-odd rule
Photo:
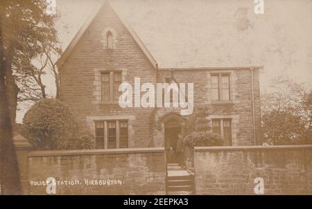
[[180, 163], [177, 152], [177, 140], [181, 134], [181, 127], [165, 127], [166, 159], [167, 163]]

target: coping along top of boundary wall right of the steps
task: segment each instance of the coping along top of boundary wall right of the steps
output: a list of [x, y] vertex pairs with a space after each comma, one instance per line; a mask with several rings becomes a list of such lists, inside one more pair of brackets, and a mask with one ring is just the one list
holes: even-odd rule
[[250, 151], [250, 150], [276, 150], [276, 149], [312, 149], [312, 145], [194, 147], [194, 152]]

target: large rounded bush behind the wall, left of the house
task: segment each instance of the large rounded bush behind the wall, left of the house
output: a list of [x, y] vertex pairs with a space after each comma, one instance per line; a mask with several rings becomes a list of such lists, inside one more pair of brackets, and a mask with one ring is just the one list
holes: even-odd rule
[[27, 111], [23, 122], [35, 149], [93, 148], [83, 123], [58, 100], [40, 100]]

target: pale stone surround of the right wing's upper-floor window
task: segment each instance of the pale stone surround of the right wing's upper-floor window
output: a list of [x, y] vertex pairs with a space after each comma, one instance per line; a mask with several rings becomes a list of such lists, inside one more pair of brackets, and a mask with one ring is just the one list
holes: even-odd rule
[[[212, 100], [211, 75], [216, 74], [229, 75], [229, 100]], [[237, 89], [237, 80], [237, 73], [234, 69], [219, 69], [207, 71], [207, 104], [238, 104], [239, 93]]]

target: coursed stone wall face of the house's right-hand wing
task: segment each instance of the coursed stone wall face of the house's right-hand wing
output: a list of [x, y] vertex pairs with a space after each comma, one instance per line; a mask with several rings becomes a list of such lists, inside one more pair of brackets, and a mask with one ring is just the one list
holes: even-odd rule
[[[229, 102], [211, 101], [211, 73], [208, 70], [181, 70], [174, 71], [173, 76], [177, 83], [194, 84], [194, 105], [207, 104], [211, 107], [212, 118], [232, 118], [233, 145], [254, 145], [253, 118], [252, 118], [252, 79], [249, 69], [219, 70], [218, 73], [230, 73], [230, 96]], [[159, 82], [170, 78], [171, 72], [160, 71]], [[187, 94], [187, 93], [186, 93]], [[261, 109], [260, 109], [259, 70], [254, 70], [254, 109], [256, 138], [261, 139]], [[179, 112], [178, 110], [170, 109]], [[156, 116], [164, 116], [168, 111], [158, 109]], [[157, 130], [156, 130], [157, 131]], [[161, 135], [161, 134], [158, 134]], [[235, 138], [234, 138], [235, 136]], [[155, 144], [162, 144], [157, 142]]]

